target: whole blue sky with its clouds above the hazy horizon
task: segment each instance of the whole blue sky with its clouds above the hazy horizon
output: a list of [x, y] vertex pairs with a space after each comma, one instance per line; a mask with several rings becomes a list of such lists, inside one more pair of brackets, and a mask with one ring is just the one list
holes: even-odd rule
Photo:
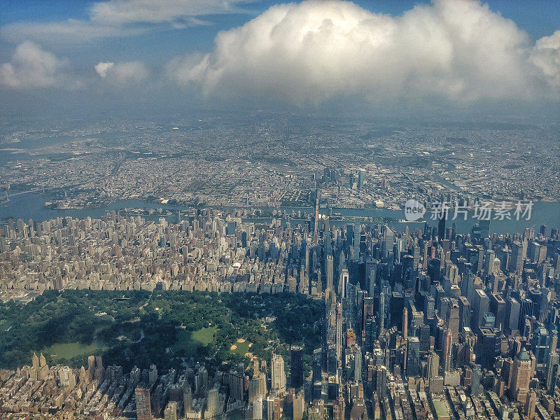
[[560, 0], [2, 0], [0, 111], [560, 116]]

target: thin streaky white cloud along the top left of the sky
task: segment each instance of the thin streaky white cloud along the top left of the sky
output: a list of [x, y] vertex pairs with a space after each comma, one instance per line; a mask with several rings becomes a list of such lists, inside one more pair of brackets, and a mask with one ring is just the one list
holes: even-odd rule
[[[211, 25], [202, 15], [240, 12], [251, 0], [112, 0], [93, 3], [86, 20], [13, 22], [0, 27], [0, 36], [19, 43], [83, 43], [98, 38], [135, 36], [161, 27], [184, 29]], [[148, 25], [145, 25], [148, 24]]]

